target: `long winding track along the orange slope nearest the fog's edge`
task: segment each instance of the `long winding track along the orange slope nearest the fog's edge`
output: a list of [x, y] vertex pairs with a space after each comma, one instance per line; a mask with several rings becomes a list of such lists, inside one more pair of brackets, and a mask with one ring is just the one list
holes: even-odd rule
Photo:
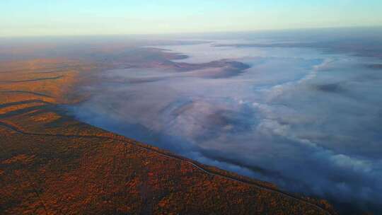
[[5, 127], [6, 129], [11, 129], [13, 132], [17, 132], [18, 134], [29, 135], [29, 136], [57, 136], [57, 137], [64, 137], [64, 138], [95, 138], [95, 139], [105, 139], [105, 140], [121, 141], [121, 142], [123, 142], [125, 144], [133, 144], [134, 146], [137, 146], [140, 149], [144, 149], [146, 151], [151, 151], [151, 152], [157, 153], [160, 156], [165, 156], [167, 158], [172, 158], [172, 159], [175, 159], [175, 160], [178, 160], [178, 161], [183, 161], [183, 162], [189, 163], [190, 165], [194, 166], [195, 168], [197, 168], [199, 170], [202, 170], [202, 172], [204, 172], [204, 173], [206, 173], [208, 175], [225, 178], [226, 180], [233, 180], [233, 181], [236, 181], [236, 182], [241, 182], [241, 183], [243, 183], [245, 185], [250, 185], [250, 186], [256, 187], [256, 188], [258, 188], [260, 190], [266, 190], [268, 192], [274, 192], [274, 193], [280, 194], [280, 195], [282, 195], [284, 197], [288, 197], [290, 199], [294, 199], [294, 200], [296, 200], [298, 202], [302, 202], [304, 204], [308, 204], [311, 207], [314, 207], [314, 208], [316, 208], [316, 209], [318, 209], [320, 211], [323, 211], [325, 214], [332, 215], [331, 212], [328, 211], [327, 209], [324, 209], [323, 207], [321, 207], [321, 206], [319, 206], [317, 204], [313, 204], [311, 202], [308, 202], [306, 199], [303, 199], [301, 197], [295, 196], [294, 194], [289, 194], [287, 192], [283, 192], [283, 191], [274, 189], [272, 187], [265, 187], [264, 185], [260, 185], [260, 184], [258, 184], [256, 182], [253, 182], [253, 181], [250, 181], [250, 180], [243, 180], [243, 179], [239, 179], [239, 178], [233, 178], [233, 177], [228, 176], [228, 175], [222, 175], [221, 173], [214, 173], [214, 172], [212, 172], [212, 170], [208, 170], [208, 169], [204, 168], [201, 164], [197, 163], [196, 161], [192, 161], [190, 159], [184, 158], [182, 156], [177, 156], [177, 155], [174, 155], [174, 154], [171, 154], [171, 153], [166, 153], [164, 151], [159, 151], [159, 150], [153, 149], [153, 148], [151, 148], [149, 146], [144, 146], [144, 145], [141, 145], [141, 144], [137, 144], [134, 141], [130, 142], [130, 141], [125, 141], [123, 139], [113, 138], [113, 137], [109, 137], [109, 136], [76, 135], [76, 134], [42, 134], [42, 133], [25, 132], [25, 131], [17, 128], [17, 127], [14, 127], [11, 124], [7, 124], [7, 123], [1, 122], [1, 121], [0, 121], [0, 127]]

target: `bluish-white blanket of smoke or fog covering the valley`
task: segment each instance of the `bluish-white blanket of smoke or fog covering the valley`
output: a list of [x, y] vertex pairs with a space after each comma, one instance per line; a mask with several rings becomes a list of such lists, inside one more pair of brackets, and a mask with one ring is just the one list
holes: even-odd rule
[[189, 56], [175, 62], [231, 66], [104, 71], [86, 88], [91, 99], [71, 110], [84, 122], [291, 192], [378, 207], [382, 71], [367, 65], [381, 59], [267, 44], [158, 47]]

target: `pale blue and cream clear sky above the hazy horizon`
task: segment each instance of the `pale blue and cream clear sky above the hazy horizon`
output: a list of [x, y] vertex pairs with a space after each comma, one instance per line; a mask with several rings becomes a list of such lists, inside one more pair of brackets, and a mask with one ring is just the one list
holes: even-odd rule
[[381, 0], [1, 0], [0, 36], [382, 25]]

